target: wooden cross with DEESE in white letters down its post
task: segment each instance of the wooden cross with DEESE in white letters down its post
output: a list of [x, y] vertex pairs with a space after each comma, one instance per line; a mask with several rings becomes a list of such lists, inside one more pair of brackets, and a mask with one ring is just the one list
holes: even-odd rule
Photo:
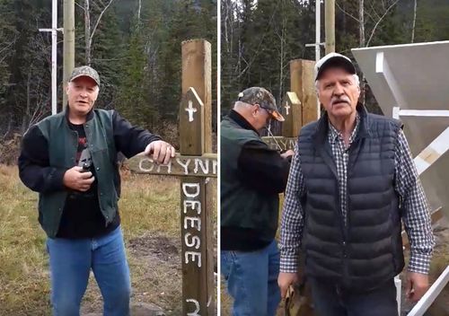
[[140, 173], [178, 175], [182, 260], [182, 315], [215, 313], [212, 191], [216, 177], [212, 152], [211, 46], [206, 40], [182, 42], [180, 154], [168, 165], [155, 165], [143, 154], [129, 162]]

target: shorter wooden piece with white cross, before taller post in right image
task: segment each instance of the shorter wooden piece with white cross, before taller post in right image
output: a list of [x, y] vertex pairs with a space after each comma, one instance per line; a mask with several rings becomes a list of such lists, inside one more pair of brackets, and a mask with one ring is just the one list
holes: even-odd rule
[[282, 115], [286, 120], [282, 123], [282, 136], [295, 137], [303, 126], [301, 101], [296, 92], [286, 92], [282, 102]]

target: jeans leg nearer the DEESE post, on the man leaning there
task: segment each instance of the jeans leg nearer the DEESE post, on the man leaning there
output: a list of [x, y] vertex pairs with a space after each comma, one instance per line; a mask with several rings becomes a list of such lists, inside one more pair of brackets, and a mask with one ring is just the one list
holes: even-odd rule
[[120, 227], [92, 241], [92, 270], [103, 296], [103, 315], [128, 316], [131, 283]]

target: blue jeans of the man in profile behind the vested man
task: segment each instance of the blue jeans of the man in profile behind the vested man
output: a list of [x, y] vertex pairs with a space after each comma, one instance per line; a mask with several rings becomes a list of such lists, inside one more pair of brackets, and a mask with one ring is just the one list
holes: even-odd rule
[[233, 316], [273, 316], [280, 302], [277, 242], [256, 251], [221, 251], [221, 273], [233, 297]]

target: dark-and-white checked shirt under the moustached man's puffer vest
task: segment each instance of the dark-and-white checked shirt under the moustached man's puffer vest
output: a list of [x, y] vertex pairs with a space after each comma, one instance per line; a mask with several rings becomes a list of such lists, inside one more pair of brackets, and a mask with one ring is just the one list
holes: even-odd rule
[[[328, 140], [332, 154], [337, 165], [339, 177], [339, 194], [341, 211], [346, 222], [347, 206], [347, 180], [348, 180], [348, 148], [357, 136], [359, 118], [350, 138], [349, 145], [345, 145], [343, 136], [329, 122]], [[401, 198], [403, 205], [402, 220], [409, 236], [410, 260], [409, 271], [428, 274], [432, 251], [435, 246], [434, 235], [430, 223], [427, 199], [418, 171], [409, 150], [409, 144], [402, 130], [399, 132], [398, 145], [394, 156], [396, 182], [394, 189]], [[304, 209], [300, 198], [306, 192], [304, 174], [301, 170], [301, 157], [298, 154], [297, 144], [295, 155], [290, 167], [290, 174], [286, 185], [286, 198], [284, 201], [281, 221], [280, 240], [280, 271], [295, 273], [299, 262], [299, 250], [303, 238]]]

